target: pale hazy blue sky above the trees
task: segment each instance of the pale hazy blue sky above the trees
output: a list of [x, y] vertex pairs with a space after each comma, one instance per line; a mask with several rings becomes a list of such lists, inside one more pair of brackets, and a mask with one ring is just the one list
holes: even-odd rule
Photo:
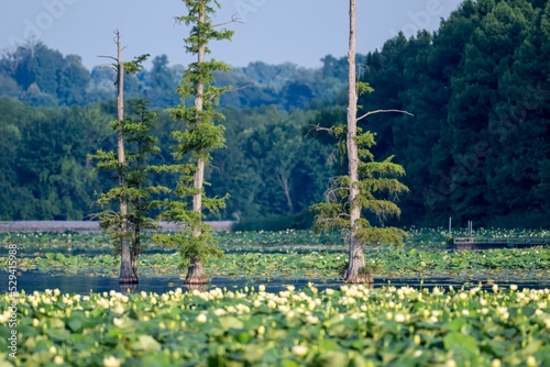
[[[436, 30], [441, 18], [461, 0], [359, 0], [358, 52], [380, 48], [399, 31]], [[244, 24], [231, 24], [231, 43], [213, 45], [213, 56], [232, 66], [262, 60], [315, 67], [348, 48], [345, 0], [221, 0], [217, 22], [238, 13]], [[0, 5], [0, 49], [13, 49], [34, 36], [64, 55], [77, 54], [86, 66], [105, 64], [98, 55], [114, 55], [119, 29], [127, 59], [148, 53], [166, 54], [170, 64], [187, 65], [183, 38], [187, 30], [174, 24], [186, 9], [180, 0], [4, 0]]]

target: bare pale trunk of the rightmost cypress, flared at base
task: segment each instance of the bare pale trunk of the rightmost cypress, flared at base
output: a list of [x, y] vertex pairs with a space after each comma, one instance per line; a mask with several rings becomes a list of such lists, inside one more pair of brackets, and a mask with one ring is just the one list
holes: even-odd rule
[[355, 22], [356, 0], [350, 0], [350, 48], [348, 53], [349, 63], [349, 87], [348, 87], [348, 170], [350, 175], [350, 259], [344, 282], [363, 283], [373, 282], [370, 274], [365, 271], [365, 254], [363, 244], [359, 241], [359, 220], [361, 218], [361, 204], [359, 203], [359, 151], [358, 151], [358, 89], [355, 71]]

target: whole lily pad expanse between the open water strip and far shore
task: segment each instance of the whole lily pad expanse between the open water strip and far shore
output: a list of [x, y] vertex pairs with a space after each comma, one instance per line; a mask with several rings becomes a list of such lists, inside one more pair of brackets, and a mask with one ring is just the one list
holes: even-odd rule
[[[378, 245], [365, 248], [374, 277], [446, 276], [457, 281], [550, 279], [550, 246], [484, 252], [446, 251], [443, 229], [408, 229], [405, 246]], [[464, 235], [463, 232], [454, 232]], [[547, 230], [477, 230], [486, 237], [543, 237]], [[339, 277], [346, 264], [348, 247], [337, 234], [310, 231], [219, 232], [216, 237], [226, 252], [222, 259], [206, 264], [209, 276], [219, 277]], [[18, 246], [18, 267], [43, 273], [117, 277], [119, 256], [105, 233], [3, 233], [0, 241]], [[77, 251], [81, 251], [75, 253]], [[148, 252], [147, 252], [148, 251]], [[157, 253], [154, 253], [157, 251]], [[8, 266], [0, 254], [0, 267]], [[179, 276], [179, 257], [174, 248], [147, 243], [140, 257], [139, 276]]]

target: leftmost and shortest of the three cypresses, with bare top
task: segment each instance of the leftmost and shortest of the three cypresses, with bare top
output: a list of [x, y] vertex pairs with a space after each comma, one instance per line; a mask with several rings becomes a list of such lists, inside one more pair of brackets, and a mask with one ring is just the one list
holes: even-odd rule
[[[157, 188], [143, 188], [146, 174], [143, 168], [146, 155], [158, 153], [154, 146], [156, 142], [151, 136], [156, 115], [147, 115], [146, 121], [132, 121], [124, 114], [124, 75], [140, 71], [143, 62], [148, 57], [142, 55], [132, 62], [122, 60], [122, 43], [119, 31], [114, 32], [117, 44], [117, 57], [100, 56], [112, 59], [112, 65], [117, 73], [117, 120], [111, 126], [117, 132], [117, 152], [102, 149], [97, 151], [89, 157], [97, 160], [96, 171], [110, 171], [118, 181], [117, 186], [107, 192], [99, 194], [97, 203], [105, 210], [96, 215], [101, 220], [101, 227], [111, 234], [114, 252], [120, 254], [120, 283], [138, 283], [138, 256], [141, 251], [141, 230], [152, 227], [143, 208], [144, 202], [150, 198], [150, 191], [157, 191]], [[146, 103], [136, 103], [136, 113], [145, 116]], [[146, 137], [145, 137], [146, 136]], [[130, 142], [148, 141], [146, 147], [138, 143], [138, 153], [128, 151], [128, 138]], [[139, 175], [136, 173], [140, 173]], [[139, 199], [138, 199], [139, 198]], [[118, 202], [118, 210], [111, 210], [110, 205]]]

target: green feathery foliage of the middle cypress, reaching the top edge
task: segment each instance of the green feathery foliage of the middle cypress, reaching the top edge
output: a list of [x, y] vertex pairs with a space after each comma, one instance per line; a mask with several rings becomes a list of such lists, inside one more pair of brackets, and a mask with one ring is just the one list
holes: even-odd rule
[[[220, 88], [213, 84], [216, 74], [228, 71], [230, 67], [213, 58], [206, 59], [210, 53], [208, 44], [211, 41], [230, 40], [233, 32], [226, 29], [218, 31], [211, 22], [216, 8], [219, 8], [218, 1], [185, 0], [184, 3], [188, 14], [177, 16], [176, 21], [191, 26], [185, 40], [186, 51], [198, 58], [184, 71], [177, 87], [182, 103], [169, 109], [172, 118], [183, 126], [173, 133], [176, 141], [173, 155], [177, 164], [167, 168], [179, 174], [179, 179], [174, 190], [176, 198], [165, 201], [161, 219], [185, 223], [185, 227], [175, 235], [156, 234], [154, 241], [178, 248], [182, 267], [187, 267], [193, 262], [204, 263], [209, 256], [222, 256], [211, 235], [211, 227], [204, 223], [204, 211], [217, 213], [226, 208], [229, 196], [208, 197], [204, 186], [198, 187], [197, 181], [202, 180], [202, 177], [198, 177], [204, 175], [200, 165], [210, 164], [211, 152], [226, 146], [224, 127], [218, 123], [223, 120], [223, 114], [216, 108], [220, 94], [230, 87]], [[199, 208], [193, 204], [197, 196], [200, 196], [201, 201]]]

